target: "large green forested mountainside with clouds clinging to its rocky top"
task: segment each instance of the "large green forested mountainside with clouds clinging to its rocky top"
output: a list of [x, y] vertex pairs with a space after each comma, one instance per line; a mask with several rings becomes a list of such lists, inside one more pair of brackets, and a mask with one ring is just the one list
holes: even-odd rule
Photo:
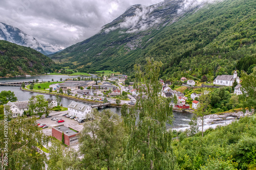
[[[100, 33], [51, 58], [80, 71], [132, 72], [145, 57], [163, 62], [164, 79], [214, 79], [231, 74], [237, 62], [255, 57], [253, 0], [166, 0], [134, 5]], [[256, 64], [256, 63], [255, 63]]]

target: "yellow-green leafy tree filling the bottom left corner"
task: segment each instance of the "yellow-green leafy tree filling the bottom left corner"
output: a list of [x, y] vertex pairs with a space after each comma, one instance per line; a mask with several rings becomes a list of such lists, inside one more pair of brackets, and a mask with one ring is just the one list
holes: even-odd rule
[[[1, 159], [8, 153], [8, 166], [2, 169], [45, 169], [46, 154], [39, 154], [37, 146], [47, 145], [49, 137], [39, 130], [36, 118], [25, 115], [12, 119], [8, 122], [8, 136], [4, 134], [4, 122], [0, 124]], [[6, 142], [8, 151], [4, 150]]]

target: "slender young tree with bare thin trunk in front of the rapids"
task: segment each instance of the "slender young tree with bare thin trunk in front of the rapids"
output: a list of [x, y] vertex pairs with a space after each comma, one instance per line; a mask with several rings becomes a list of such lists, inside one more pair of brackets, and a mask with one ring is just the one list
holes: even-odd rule
[[211, 102], [211, 97], [209, 93], [200, 95], [199, 104], [195, 112], [197, 116], [201, 116], [202, 137], [204, 136], [204, 116], [210, 113], [210, 109], [211, 109], [210, 102]]

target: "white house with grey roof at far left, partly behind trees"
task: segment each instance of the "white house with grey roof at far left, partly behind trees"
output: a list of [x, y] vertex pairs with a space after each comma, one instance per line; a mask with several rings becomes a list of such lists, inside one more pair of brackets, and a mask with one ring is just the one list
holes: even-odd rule
[[24, 111], [29, 110], [29, 101], [22, 102], [8, 102], [4, 105], [5, 113], [8, 112], [7, 107], [10, 107], [11, 117], [22, 116]]

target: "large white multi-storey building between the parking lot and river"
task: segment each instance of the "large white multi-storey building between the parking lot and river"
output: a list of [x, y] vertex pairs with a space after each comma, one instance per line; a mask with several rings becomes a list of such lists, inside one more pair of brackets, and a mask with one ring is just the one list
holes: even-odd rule
[[68, 106], [69, 115], [79, 118], [86, 118], [92, 111], [92, 107], [81, 103], [71, 102]]

